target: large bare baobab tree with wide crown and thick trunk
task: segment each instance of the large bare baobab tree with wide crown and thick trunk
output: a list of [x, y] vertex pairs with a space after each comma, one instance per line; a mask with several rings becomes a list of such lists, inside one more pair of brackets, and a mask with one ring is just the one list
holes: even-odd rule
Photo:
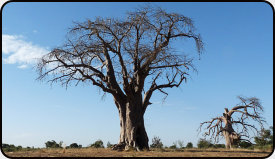
[[[64, 46], [37, 64], [39, 80], [68, 86], [90, 82], [113, 96], [119, 112], [120, 138], [113, 149], [148, 149], [144, 113], [155, 91], [179, 87], [194, 70], [196, 56], [175, 50], [178, 39], [203, 42], [193, 21], [161, 8], [142, 7], [125, 19], [101, 18], [75, 23]], [[195, 46], [194, 45], [194, 46]]]

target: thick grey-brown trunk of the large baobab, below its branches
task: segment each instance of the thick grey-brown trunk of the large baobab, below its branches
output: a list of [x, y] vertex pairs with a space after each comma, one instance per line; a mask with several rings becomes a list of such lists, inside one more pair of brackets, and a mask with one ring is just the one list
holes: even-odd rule
[[119, 106], [120, 138], [113, 150], [148, 150], [148, 136], [144, 126], [141, 103], [133, 100]]

